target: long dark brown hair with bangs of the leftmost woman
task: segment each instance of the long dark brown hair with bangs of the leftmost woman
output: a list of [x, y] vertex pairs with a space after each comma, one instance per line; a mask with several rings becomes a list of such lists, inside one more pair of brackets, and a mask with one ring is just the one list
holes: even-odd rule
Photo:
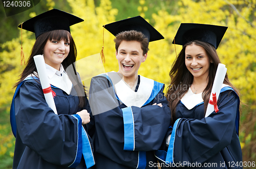
[[[84, 99], [84, 97], [86, 97], [86, 93], [84, 90], [84, 86], [82, 85], [81, 81], [78, 79], [77, 72], [76, 72], [76, 65], [75, 65], [76, 56], [77, 56], [76, 45], [71, 34], [65, 30], [49, 31], [37, 37], [35, 44], [32, 48], [30, 57], [28, 59], [27, 65], [24, 71], [19, 75], [20, 78], [18, 79], [18, 82], [15, 83], [14, 87], [17, 87], [18, 84], [22, 82], [30, 74], [37, 76], [36, 74], [34, 74], [34, 72], [37, 72], [37, 70], [36, 70], [33, 57], [37, 54], [42, 54], [43, 49], [46, 45], [46, 42], [52, 39], [57, 41], [64, 40], [64, 41], [70, 42], [70, 51], [69, 51], [68, 57], [65, 60], [63, 60], [61, 64], [65, 69], [65, 71], [68, 73], [70, 80], [72, 81], [74, 88], [77, 92], [77, 95], [79, 98], [79, 107], [83, 107], [86, 104]], [[71, 65], [73, 69], [67, 69]]]

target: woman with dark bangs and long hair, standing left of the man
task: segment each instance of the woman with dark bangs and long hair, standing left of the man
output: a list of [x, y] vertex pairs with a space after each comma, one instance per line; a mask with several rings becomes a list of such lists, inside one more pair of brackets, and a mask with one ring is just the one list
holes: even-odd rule
[[[53, 9], [19, 25], [34, 32], [36, 41], [11, 106], [13, 168], [84, 168], [94, 163], [91, 138], [82, 126], [90, 122], [91, 109], [75, 69], [77, 51], [69, 28], [81, 21]], [[44, 55], [58, 115], [44, 97], [33, 59], [38, 54]]]

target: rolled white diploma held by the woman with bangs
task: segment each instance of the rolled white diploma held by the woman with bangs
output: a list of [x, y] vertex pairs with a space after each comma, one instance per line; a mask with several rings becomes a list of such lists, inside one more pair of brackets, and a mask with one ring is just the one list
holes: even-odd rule
[[[45, 59], [44, 56], [41, 54], [35, 55], [34, 56], [34, 61], [35, 61], [35, 66], [37, 69], [37, 73], [41, 82], [41, 87], [42, 89], [46, 89], [51, 87], [48, 76], [46, 74], [46, 64], [45, 64]], [[52, 92], [50, 93], [44, 93], [46, 102], [48, 106], [54, 111], [54, 113], [57, 115], [57, 109], [55, 106], [55, 102], [53, 100]]]

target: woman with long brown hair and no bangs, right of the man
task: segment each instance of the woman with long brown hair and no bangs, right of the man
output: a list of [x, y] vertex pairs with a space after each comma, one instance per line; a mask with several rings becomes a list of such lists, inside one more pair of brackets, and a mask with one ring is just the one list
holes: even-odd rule
[[227, 74], [217, 103], [219, 111], [205, 117], [221, 63], [216, 49], [226, 30], [225, 26], [182, 23], [175, 36], [173, 43], [183, 48], [169, 72], [166, 94], [173, 127], [166, 140], [165, 164], [170, 167], [243, 167], [239, 91]]

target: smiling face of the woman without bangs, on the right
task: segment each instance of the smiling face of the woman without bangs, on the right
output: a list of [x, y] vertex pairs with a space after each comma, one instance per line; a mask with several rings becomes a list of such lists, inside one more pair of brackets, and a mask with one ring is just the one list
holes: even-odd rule
[[202, 46], [191, 44], [185, 49], [185, 65], [194, 78], [207, 79], [210, 59]]

